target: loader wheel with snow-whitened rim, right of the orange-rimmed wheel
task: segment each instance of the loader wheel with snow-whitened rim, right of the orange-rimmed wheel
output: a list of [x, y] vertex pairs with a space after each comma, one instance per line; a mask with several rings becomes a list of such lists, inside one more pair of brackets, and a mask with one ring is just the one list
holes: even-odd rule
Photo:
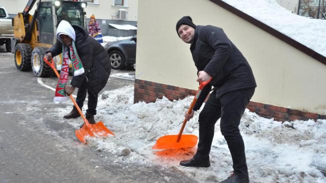
[[48, 77], [52, 68], [43, 60], [47, 47], [35, 47], [32, 52], [32, 70], [37, 77]]

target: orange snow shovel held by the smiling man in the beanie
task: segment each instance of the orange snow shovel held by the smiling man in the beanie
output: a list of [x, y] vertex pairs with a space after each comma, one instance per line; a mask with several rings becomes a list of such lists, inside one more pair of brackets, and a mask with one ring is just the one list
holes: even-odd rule
[[[212, 77], [204, 82], [201, 82], [197, 93], [191, 102], [191, 105], [188, 109], [188, 114], [191, 114], [196, 101], [202, 92], [202, 89], [212, 80]], [[193, 134], [182, 134], [184, 128], [186, 126], [187, 119], [185, 118], [182, 127], [177, 135], [165, 135], [161, 136], [157, 139], [155, 145], [152, 147], [153, 149], [178, 149], [178, 148], [191, 148], [197, 144], [198, 137]]]

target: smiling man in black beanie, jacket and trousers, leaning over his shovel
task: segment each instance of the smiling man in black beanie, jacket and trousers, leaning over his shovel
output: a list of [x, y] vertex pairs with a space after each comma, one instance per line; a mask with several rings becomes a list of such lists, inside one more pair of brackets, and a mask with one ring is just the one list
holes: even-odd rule
[[193, 158], [180, 162], [183, 166], [210, 166], [209, 153], [214, 136], [214, 125], [221, 117], [221, 132], [227, 141], [233, 160], [233, 173], [225, 182], [249, 182], [245, 147], [239, 131], [241, 116], [254, 94], [256, 81], [251, 67], [240, 50], [230, 41], [222, 28], [195, 25], [190, 16], [177, 22], [177, 33], [186, 43], [197, 67], [198, 79], [213, 80], [202, 90], [189, 120], [203, 104], [211, 91], [203, 110], [199, 114], [199, 142]]

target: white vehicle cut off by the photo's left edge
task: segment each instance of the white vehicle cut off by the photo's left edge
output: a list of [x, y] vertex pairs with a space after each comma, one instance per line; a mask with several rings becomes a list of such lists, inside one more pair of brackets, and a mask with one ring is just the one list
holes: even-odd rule
[[0, 45], [6, 44], [6, 50], [12, 50], [11, 38], [14, 37], [12, 18], [5, 7], [0, 6]]

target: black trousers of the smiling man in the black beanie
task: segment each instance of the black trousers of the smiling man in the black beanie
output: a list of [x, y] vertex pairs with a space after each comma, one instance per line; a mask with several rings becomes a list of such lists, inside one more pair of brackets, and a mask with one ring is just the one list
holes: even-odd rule
[[228, 143], [233, 160], [233, 169], [240, 175], [248, 174], [245, 147], [239, 130], [240, 119], [254, 94], [255, 88], [229, 91], [216, 96], [213, 91], [199, 114], [199, 142], [195, 157], [209, 158], [214, 125], [221, 117], [221, 132]]

